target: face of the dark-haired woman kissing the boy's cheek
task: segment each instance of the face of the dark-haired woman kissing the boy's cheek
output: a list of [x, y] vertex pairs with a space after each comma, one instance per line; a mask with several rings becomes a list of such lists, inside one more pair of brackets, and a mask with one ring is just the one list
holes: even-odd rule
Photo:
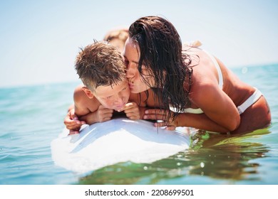
[[150, 86], [152, 87], [154, 85], [154, 78], [153, 76], [149, 75], [149, 72], [148, 70], [146, 70], [145, 65], [142, 65], [142, 75], [146, 80], [148, 80], [150, 86], [146, 85], [143, 77], [140, 76], [140, 72], [138, 70], [140, 50], [138, 48], [138, 45], [130, 38], [128, 38], [128, 40], [125, 42], [123, 57], [125, 60], [125, 65], [128, 69], [126, 72], [126, 77], [128, 77], [130, 92], [139, 93], [150, 89]]

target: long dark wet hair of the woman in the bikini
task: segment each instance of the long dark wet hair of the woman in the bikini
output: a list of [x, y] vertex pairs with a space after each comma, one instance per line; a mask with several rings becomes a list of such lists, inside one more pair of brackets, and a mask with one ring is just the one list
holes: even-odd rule
[[[188, 95], [192, 83], [191, 60], [189, 55], [182, 53], [182, 41], [177, 30], [164, 18], [146, 16], [130, 26], [129, 36], [140, 50], [138, 70], [143, 81], [158, 96], [160, 107], [170, 109], [170, 104], [176, 110], [172, 116], [177, 117], [190, 103]], [[154, 86], [143, 75], [142, 65], [154, 77]]]

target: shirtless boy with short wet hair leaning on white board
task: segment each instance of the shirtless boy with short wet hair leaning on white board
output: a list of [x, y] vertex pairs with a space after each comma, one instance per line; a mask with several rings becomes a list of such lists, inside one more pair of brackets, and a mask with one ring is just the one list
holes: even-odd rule
[[[76, 120], [71, 124], [65, 123], [70, 134], [78, 133], [83, 124], [110, 120], [114, 110], [124, 111], [129, 119], [142, 119], [138, 104], [145, 106], [146, 95], [130, 96], [126, 67], [117, 48], [95, 41], [81, 49], [75, 67], [84, 86], [76, 88], [74, 109], [68, 112], [68, 116]], [[129, 99], [133, 102], [128, 103]], [[141, 113], [143, 115], [143, 109]]]

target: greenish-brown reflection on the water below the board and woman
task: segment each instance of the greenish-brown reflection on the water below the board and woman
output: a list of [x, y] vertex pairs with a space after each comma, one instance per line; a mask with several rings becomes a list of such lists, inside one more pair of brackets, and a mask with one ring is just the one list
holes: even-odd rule
[[[80, 184], [206, 184], [260, 181], [258, 158], [269, 147], [259, 143], [260, 129], [248, 134], [222, 135], [198, 131], [190, 149], [151, 164], [118, 163], [93, 171]], [[202, 180], [209, 178], [208, 180]], [[193, 179], [193, 180], [192, 180]]]

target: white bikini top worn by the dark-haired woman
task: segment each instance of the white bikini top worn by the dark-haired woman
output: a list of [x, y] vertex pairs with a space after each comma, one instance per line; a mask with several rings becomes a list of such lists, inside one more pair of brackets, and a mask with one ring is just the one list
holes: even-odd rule
[[[200, 41], [193, 41], [193, 42], [190, 42], [190, 43], [184, 43], [182, 47], [183, 48], [185, 48], [185, 47], [195, 47], [195, 48], [197, 48], [200, 45], [202, 45], [202, 43]], [[205, 51], [205, 50], [203, 50], [203, 51], [205, 53], [207, 53], [207, 51]], [[217, 63], [217, 60], [215, 59], [214, 56], [210, 55], [210, 53], [207, 53], [207, 55], [211, 58], [212, 62], [215, 65], [215, 68], [217, 69], [218, 79], [219, 79], [218, 85], [222, 89], [222, 87], [223, 87], [223, 75], [222, 75], [222, 72], [221, 72], [220, 65]], [[175, 109], [171, 105], [169, 107], [170, 107], [171, 111], [177, 112], [177, 109]], [[200, 108], [199, 109], [187, 108], [187, 109], [183, 109], [182, 113], [202, 114], [204, 112]]]

